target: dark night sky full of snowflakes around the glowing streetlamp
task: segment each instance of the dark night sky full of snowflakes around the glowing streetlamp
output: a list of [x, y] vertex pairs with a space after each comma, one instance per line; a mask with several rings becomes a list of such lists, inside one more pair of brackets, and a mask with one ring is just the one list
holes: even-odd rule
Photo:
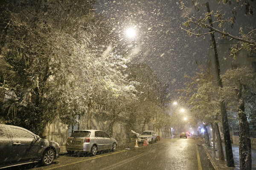
[[[128, 53], [125, 57], [133, 63], [144, 62], [149, 65], [162, 84], [170, 85], [169, 91], [173, 99], [179, 97], [175, 90], [183, 87], [186, 81], [184, 74], [195, 76], [195, 61], [206, 64], [211, 43], [209, 36], [206, 40], [202, 37], [189, 37], [180, 29], [184, 19], [178, 2], [179, 0], [99, 0], [93, 6], [97, 13], [114, 23], [116, 36], [127, 46]], [[214, 4], [210, 3], [210, 7], [214, 8]], [[228, 8], [225, 9], [228, 11]], [[206, 8], [200, 12], [204, 10]], [[137, 31], [136, 38], [132, 40], [125, 37], [124, 33], [129, 27], [134, 27]], [[236, 28], [233, 31], [235, 30], [237, 31]]]

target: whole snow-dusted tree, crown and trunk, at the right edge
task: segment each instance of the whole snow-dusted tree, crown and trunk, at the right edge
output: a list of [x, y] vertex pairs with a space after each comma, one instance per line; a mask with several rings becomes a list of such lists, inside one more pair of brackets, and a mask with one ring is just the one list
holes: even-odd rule
[[230, 69], [222, 75], [223, 98], [236, 101], [239, 116], [239, 159], [241, 170], [251, 170], [250, 129], [245, 112], [245, 103], [255, 102], [256, 73], [246, 67]]

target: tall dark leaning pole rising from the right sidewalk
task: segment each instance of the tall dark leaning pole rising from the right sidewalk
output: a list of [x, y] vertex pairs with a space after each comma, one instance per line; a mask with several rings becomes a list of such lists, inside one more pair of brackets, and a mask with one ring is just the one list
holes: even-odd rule
[[[207, 12], [210, 12], [209, 2], [206, 3], [206, 6], [207, 6]], [[213, 27], [211, 15], [209, 15], [209, 24], [211, 27]], [[209, 31], [212, 32], [211, 37], [212, 37], [212, 45], [213, 45], [213, 50], [214, 50], [214, 61], [215, 61], [215, 71], [216, 71], [217, 83], [218, 83], [219, 88], [223, 88], [222, 80], [220, 77], [221, 70], [220, 70], [220, 64], [218, 61], [218, 52], [217, 52], [217, 47], [216, 47], [215, 36], [214, 36], [213, 30], [211, 28]], [[230, 139], [230, 131], [229, 131], [229, 125], [228, 125], [228, 119], [227, 119], [226, 104], [222, 99], [220, 102], [220, 107], [221, 107], [221, 120], [222, 120], [223, 133], [224, 133], [225, 152], [226, 152], [226, 157], [227, 157], [227, 166], [235, 167], [231, 139]]]

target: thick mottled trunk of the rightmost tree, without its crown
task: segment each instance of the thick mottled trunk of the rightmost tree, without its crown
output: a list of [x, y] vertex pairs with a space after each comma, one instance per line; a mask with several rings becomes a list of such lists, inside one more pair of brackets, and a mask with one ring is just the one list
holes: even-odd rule
[[242, 85], [239, 85], [239, 105], [238, 105], [238, 116], [239, 116], [239, 160], [240, 170], [251, 170], [252, 169], [252, 152], [250, 144], [250, 129], [249, 123], [247, 122], [246, 114], [244, 113], [244, 99], [241, 97]]

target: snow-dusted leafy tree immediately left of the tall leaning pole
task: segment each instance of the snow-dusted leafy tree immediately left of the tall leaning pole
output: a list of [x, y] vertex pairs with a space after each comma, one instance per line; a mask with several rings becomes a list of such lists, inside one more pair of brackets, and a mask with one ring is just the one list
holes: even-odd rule
[[[213, 75], [209, 70], [205, 70], [202, 65], [198, 66], [199, 72], [196, 77], [188, 77], [189, 82], [186, 88], [181, 90], [184, 97], [181, 100], [185, 101], [192, 109], [193, 117], [201, 122], [207, 122], [214, 125], [217, 136], [219, 159], [224, 160], [224, 153], [221, 144], [221, 135], [219, 133], [218, 123], [220, 122], [220, 108], [218, 88], [213, 81]], [[209, 143], [208, 141], [206, 141]]]

